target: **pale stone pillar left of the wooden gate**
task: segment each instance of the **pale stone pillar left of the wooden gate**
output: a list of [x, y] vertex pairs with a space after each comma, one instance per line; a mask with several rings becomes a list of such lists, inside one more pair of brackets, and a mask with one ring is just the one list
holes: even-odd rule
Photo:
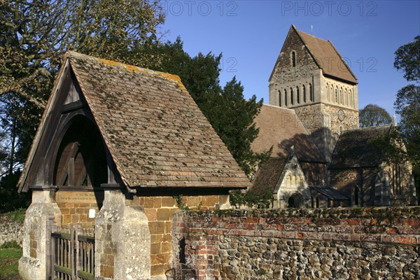
[[22, 279], [45, 280], [50, 276], [51, 230], [59, 223], [60, 216], [55, 191], [32, 191], [32, 203], [26, 211], [23, 224], [23, 255], [19, 260]]

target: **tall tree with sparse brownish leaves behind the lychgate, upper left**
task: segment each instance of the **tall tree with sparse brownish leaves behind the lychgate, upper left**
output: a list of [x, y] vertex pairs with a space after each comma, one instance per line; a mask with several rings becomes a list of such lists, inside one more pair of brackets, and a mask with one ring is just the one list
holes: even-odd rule
[[[0, 180], [16, 194], [66, 50], [151, 66], [165, 21], [158, 1], [0, 0]], [[4, 176], [3, 176], [4, 175]], [[2, 177], [3, 176], [3, 177]], [[13, 197], [13, 195], [12, 195]]]

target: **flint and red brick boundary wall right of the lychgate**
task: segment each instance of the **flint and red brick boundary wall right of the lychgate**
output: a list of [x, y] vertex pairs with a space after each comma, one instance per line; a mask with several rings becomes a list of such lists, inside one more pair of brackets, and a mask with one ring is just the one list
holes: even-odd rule
[[199, 279], [420, 276], [420, 207], [181, 211], [172, 223], [172, 265], [185, 251]]

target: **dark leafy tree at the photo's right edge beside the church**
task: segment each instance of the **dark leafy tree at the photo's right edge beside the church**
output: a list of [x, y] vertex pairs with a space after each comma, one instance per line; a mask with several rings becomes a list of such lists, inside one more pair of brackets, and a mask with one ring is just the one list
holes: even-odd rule
[[414, 165], [420, 200], [420, 36], [395, 51], [394, 67], [404, 72], [407, 81], [414, 82], [398, 90], [394, 108], [401, 116], [399, 129], [407, 146], [407, 157]]

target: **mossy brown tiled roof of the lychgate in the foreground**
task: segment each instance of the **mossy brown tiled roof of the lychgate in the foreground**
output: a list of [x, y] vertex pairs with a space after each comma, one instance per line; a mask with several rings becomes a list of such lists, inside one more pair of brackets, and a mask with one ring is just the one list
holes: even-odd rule
[[77, 52], [67, 62], [127, 186], [251, 186], [178, 76]]

